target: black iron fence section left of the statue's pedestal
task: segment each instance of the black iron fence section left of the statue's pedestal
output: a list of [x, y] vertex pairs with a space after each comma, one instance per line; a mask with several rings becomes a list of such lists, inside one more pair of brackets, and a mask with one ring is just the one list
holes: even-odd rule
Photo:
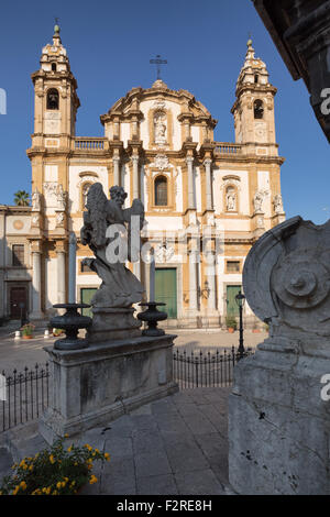
[[40, 417], [50, 404], [50, 369], [35, 364], [23, 372], [14, 370], [10, 375], [2, 372], [4, 400], [0, 402], [0, 431]]

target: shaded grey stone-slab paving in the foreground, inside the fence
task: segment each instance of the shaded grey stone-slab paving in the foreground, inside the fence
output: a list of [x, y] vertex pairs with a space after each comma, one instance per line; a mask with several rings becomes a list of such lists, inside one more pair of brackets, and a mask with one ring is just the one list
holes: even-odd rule
[[[182, 391], [142, 406], [75, 441], [109, 452], [91, 495], [227, 495], [228, 388]], [[29, 431], [30, 429], [30, 431]], [[30, 437], [29, 437], [29, 432]], [[2, 443], [1, 443], [2, 442]], [[10, 443], [10, 448], [8, 447]], [[0, 477], [14, 461], [46, 447], [36, 426], [0, 436]]]

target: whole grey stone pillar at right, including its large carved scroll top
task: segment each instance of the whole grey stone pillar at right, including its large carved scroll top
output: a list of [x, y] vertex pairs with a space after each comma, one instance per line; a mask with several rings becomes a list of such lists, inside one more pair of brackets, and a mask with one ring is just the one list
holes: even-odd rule
[[244, 495], [330, 495], [330, 222], [295, 217], [251, 249], [243, 286], [270, 324], [229, 397], [229, 481]]

